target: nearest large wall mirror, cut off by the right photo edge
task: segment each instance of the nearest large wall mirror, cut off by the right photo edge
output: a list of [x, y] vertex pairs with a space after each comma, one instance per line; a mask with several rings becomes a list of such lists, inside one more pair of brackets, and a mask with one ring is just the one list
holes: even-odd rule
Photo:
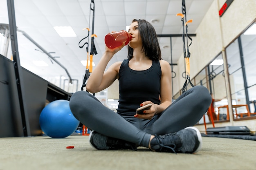
[[255, 30], [254, 23], [226, 49], [234, 119], [256, 115]]

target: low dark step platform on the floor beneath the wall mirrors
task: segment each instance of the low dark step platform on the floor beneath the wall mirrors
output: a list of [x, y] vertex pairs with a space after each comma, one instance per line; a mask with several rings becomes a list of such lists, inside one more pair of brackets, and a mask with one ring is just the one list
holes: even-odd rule
[[221, 135], [249, 135], [250, 130], [247, 126], [225, 126], [216, 128], [207, 128], [207, 134]]

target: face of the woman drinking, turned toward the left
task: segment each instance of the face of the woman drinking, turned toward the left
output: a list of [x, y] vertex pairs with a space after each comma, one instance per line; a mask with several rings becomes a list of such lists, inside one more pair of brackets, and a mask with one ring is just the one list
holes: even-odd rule
[[129, 42], [129, 46], [131, 48], [134, 49], [134, 47], [136, 46], [141, 46], [142, 45], [142, 41], [141, 41], [141, 37], [140, 37], [140, 34], [139, 34], [139, 29], [138, 29], [138, 22], [132, 22], [132, 24], [130, 24], [130, 28], [128, 30], [128, 33], [130, 35], [132, 35], [132, 39], [130, 40]]

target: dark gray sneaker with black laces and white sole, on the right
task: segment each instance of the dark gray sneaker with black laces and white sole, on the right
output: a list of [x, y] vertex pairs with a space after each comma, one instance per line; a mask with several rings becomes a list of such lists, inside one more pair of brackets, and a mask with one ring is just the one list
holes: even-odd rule
[[157, 152], [195, 153], [202, 148], [202, 136], [197, 128], [187, 127], [176, 133], [155, 135], [150, 146]]

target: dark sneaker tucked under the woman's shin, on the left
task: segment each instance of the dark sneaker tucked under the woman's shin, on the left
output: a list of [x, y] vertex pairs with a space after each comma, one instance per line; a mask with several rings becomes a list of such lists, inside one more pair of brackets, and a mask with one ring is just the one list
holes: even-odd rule
[[136, 144], [113, 137], [107, 137], [94, 130], [89, 135], [90, 145], [99, 150], [119, 150], [119, 149], [131, 149], [137, 150]]

